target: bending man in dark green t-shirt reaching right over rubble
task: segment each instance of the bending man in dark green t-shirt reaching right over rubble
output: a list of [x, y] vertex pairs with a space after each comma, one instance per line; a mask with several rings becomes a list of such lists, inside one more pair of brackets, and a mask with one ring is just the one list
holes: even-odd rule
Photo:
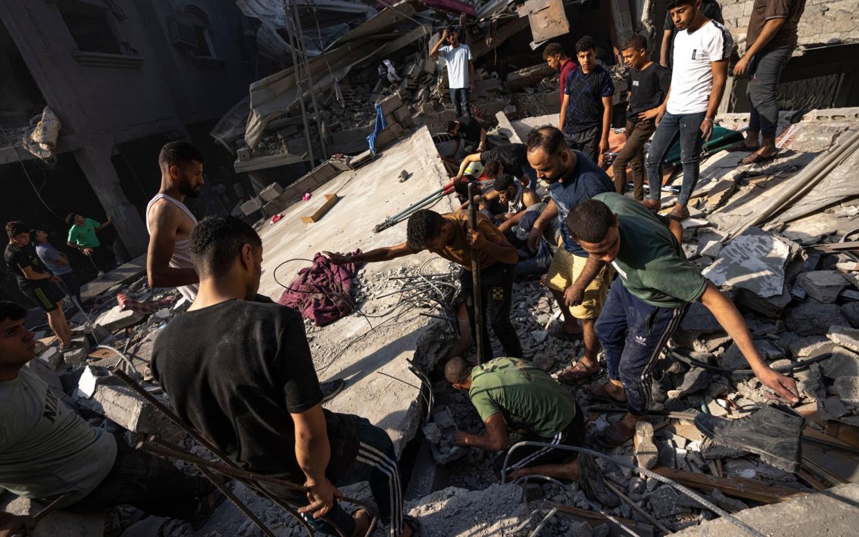
[[799, 401], [795, 382], [771, 369], [755, 349], [734, 303], [685, 259], [674, 235], [642, 204], [615, 192], [599, 194], [570, 211], [567, 227], [588, 252], [588, 265], [573, 284], [577, 289], [606, 263], [619, 277], [596, 323], [609, 381], [594, 394], [625, 402], [629, 412], [601, 430], [597, 442], [621, 445], [635, 434], [637, 422], [647, 419], [650, 372], [691, 302], [710, 310], [759, 381], [784, 399]]

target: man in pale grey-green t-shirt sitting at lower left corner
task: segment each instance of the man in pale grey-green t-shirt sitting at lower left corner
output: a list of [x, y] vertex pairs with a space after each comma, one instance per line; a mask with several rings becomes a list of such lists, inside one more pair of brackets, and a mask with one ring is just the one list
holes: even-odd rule
[[200, 528], [222, 494], [66, 406], [27, 366], [36, 341], [26, 318], [0, 302], [0, 488], [45, 503], [62, 497], [58, 508], [79, 512], [127, 503]]

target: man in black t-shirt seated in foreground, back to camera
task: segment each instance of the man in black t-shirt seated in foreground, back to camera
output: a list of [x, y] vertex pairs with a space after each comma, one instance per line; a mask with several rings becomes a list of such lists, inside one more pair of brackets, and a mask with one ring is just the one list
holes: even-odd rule
[[367, 511], [350, 516], [336, 498], [338, 486], [369, 480], [391, 536], [411, 535], [391, 439], [364, 418], [322, 409], [301, 314], [257, 295], [259, 235], [238, 218], [208, 217], [192, 231], [190, 251], [197, 299], [162, 330], [152, 354], [176, 413], [248, 471], [307, 487], [306, 497], [268, 488], [303, 504], [321, 533], [367, 532]]

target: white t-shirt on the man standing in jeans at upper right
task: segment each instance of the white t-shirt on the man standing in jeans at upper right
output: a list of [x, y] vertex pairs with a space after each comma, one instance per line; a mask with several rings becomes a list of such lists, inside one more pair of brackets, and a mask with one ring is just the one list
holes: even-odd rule
[[710, 63], [727, 59], [734, 40], [716, 21], [709, 21], [694, 33], [678, 32], [674, 38], [674, 67], [668, 113], [700, 113], [707, 110], [713, 90]]

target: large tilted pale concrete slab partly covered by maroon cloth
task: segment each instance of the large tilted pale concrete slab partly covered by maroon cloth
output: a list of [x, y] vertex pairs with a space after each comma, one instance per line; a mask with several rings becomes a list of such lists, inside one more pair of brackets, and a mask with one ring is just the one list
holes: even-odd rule
[[[399, 173], [404, 169], [412, 176], [400, 183]], [[333, 192], [341, 197], [325, 219], [302, 223], [300, 217], [306, 209], [303, 204], [295, 204], [283, 211], [282, 220], [261, 230], [264, 252], [259, 292], [277, 300], [284, 289], [277, 281], [288, 284], [301, 268], [310, 265], [308, 259], [313, 259], [316, 252], [351, 252], [357, 248], [367, 251], [404, 242], [405, 222], [378, 234], [372, 229], [438, 190], [447, 180], [426, 127], [395, 143], [367, 166], [343, 172], [313, 192], [314, 198]], [[445, 198], [432, 209], [447, 212], [452, 205]], [[395, 282], [388, 278], [392, 270], [417, 267], [432, 257], [421, 253], [367, 265], [361, 278], [387, 282], [393, 290]], [[381, 312], [396, 300], [396, 296], [371, 300], [364, 308]], [[399, 316], [380, 315], [365, 319], [353, 313], [308, 332], [320, 380], [339, 377], [346, 381], [344, 391], [326, 407], [333, 412], [361, 415], [383, 427], [399, 453], [417, 430], [421, 403], [420, 381], [408, 370], [405, 360], [415, 356], [418, 339], [436, 321], [408, 310]]]

